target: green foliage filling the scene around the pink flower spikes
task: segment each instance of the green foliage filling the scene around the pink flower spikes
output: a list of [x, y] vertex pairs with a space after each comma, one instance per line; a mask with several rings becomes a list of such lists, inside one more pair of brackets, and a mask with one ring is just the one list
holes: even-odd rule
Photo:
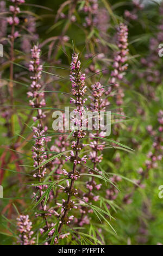
[[[124, 89], [124, 102], [121, 106], [124, 114], [116, 113], [117, 105], [112, 97], [110, 105], [107, 107], [107, 110], [111, 111], [111, 135], [107, 138], [94, 137], [94, 139], [98, 139], [98, 144], [105, 144], [102, 162], [98, 164], [98, 169], [101, 172], [98, 172], [93, 167], [93, 163], [87, 160], [86, 165], [81, 164], [80, 167], [84, 171], [74, 186], [79, 192], [87, 193], [86, 181], [95, 179], [97, 184], [102, 184], [100, 190], [93, 191], [96, 196], [99, 196], [99, 200], [88, 203], [80, 196], [73, 198], [76, 205], [83, 205], [86, 209], [92, 210], [90, 224], [84, 224], [82, 227], [78, 224], [73, 226], [72, 223], [64, 225], [61, 235], [67, 233], [69, 235], [60, 239], [59, 245], [68, 243], [71, 245], [156, 245], [158, 242], [163, 243], [163, 201], [158, 197], [158, 187], [162, 185], [163, 163], [159, 161], [158, 167], [151, 168], [142, 184], [139, 184], [140, 175], [137, 172], [139, 168], [145, 170], [147, 154], [153, 150], [154, 138], [147, 132], [147, 126], [152, 125], [154, 131], [158, 131], [158, 112], [163, 109], [162, 58], [156, 59], [152, 71], [141, 64], [142, 58], [148, 61], [148, 57], [152, 54], [150, 40], [156, 38], [162, 19], [159, 5], [147, 4], [145, 9], [138, 12], [137, 19], [127, 20], [124, 11], [132, 10], [131, 1], [98, 1], [99, 8], [105, 9], [108, 15], [108, 27], [105, 32], [101, 33], [98, 26], [92, 29], [83, 26], [85, 14], [82, 12], [82, 8], [85, 1], [78, 1], [77, 7], [74, 8], [73, 15], [76, 16], [76, 22], [70, 22], [68, 11], [71, 5], [64, 5], [65, 2], [64, 0], [47, 0], [45, 3], [40, 0], [38, 5], [38, 1], [30, 0], [26, 1], [26, 5], [22, 7], [21, 15], [34, 17], [36, 32], [39, 35], [38, 42], [42, 44], [41, 85], [46, 95], [46, 107], [31, 108], [29, 106], [27, 92], [30, 87], [28, 71], [30, 52], [23, 52], [22, 36], [15, 42], [14, 62], [11, 62], [9, 57], [9, 39], [5, 39], [4, 61], [0, 68], [1, 108], [2, 113], [12, 109], [14, 134], [10, 135], [8, 131], [11, 120], [1, 115], [0, 161], [2, 176], [0, 177], [4, 193], [4, 198], [0, 199], [1, 244], [12, 245], [18, 239], [16, 218], [19, 214], [29, 214], [32, 218], [37, 245], [42, 245], [47, 241], [54, 245], [55, 237], [59, 237], [58, 229], [62, 217], [60, 211], [58, 211], [58, 215], [52, 214], [51, 216], [51, 222], [55, 223], [55, 231], [51, 239], [49, 239], [48, 233], [53, 230], [53, 227], [41, 235], [39, 229], [45, 225], [45, 220], [42, 221], [39, 217], [34, 218], [35, 212], [43, 215], [39, 205], [42, 203], [45, 206], [51, 193], [54, 194], [54, 199], [49, 205], [53, 210], [58, 210], [56, 202], [61, 203], [62, 199], [66, 200], [66, 193], [60, 185], [66, 186], [67, 178], [62, 174], [57, 174], [55, 172], [57, 167], [53, 166], [54, 168], [52, 168], [51, 164], [53, 165], [53, 161], [56, 159], [65, 159], [71, 146], [60, 153], [52, 151], [51, 147], [55, 144], [55, 139], [61, 135], [67, 135], [65, 142], [72, 141], [73, 131], [54, 132], [52, 130], [52, 113], [54, 110], [64, 111], [64, 106], [69, 106], [69, 98], [72, 95], [69, 82], [70, 62], [74, 48], [80, 52], [83, 72], [85, 69], [89, 70], [90, 65], [95, 65], [97, 70], [95, 72], [89, 70], [86, 74], [86, 94], [88, 96], [96, 91], [92, 90], [91, 84], [98, 81], [102, 82], [101, 89], [113, 88], [114, 90], [116, 88], [115, 83], [111, 84], [109, 80], [113, 69], [112, 62], [118, 51], [116, 29], [120, 22], [126, 22], [129, 28], [129, 66], [125, 72], [124, 81], [120, 82], [120, 87]], [[7, 3], [8, 5], [9, 3]], [[60, 19], [59, 13], [64, 13], [66, 18]], [[23, 23], [20, 28], [21, 35], [27, 33]], [[7, 32], [10, 33], [9, 26]], [[62, 38], [64, 35], [67, 35], [70, 40], [64, 41]], [[46, 42], [46, 40], [49, 41]], [[89, 59], [85, 57], [87, 52], [92, 54]], [[103, 52], [104, 58], [98, 58], [98, 54]], [[156, 57], [158, 56], [156, 55]], [[10, 79], [9, 75], [11, 63], [14, 64], [14, 79]], [[153, 77], [154, 71], [160, 71], [159, 82], [147, 80], [150, 77], [145, 74], [151, 72]], [[14, 84], [14, 106], [9, 97], [10, 82]], [[116, 94], [116, 89], [114, 92]], [[153, 94], [155, 94], [155, 98], [151, 96]], [[84, 107], [86, 108], [87, 105]], [[41, 151], [42, 154], [47, 153], [47, 160], [35, 168], [31, 151], [35, 142], [32, 131], [35, 124], [32, 117], [38, 109], [42, 109], [47, 115], [45, 123], [48, 126], [48, 131], [46, 136], [42, 137], [51, 136], [52, 141], [48, 142], [45, 151]], [[38, 137], [38, 139], [42, 137]], [[82, 142], [87, 146], [86, 154], [90, 152], [89, 138], [90, 136], [87, 135]], [[34, 172], [44, 166], [49, 168], [45, 177], [41, 181], [34, 180]], [[64, 168], [71, 171], [71, 163], [66, 162]], [[112, 177], [119, 177], [122, 181], [112, 181]], [[37, 191], [32, 197], [35, 187], [42, 185], [46, 186], [43, 194], [39, 196], [39, 191]], [[62, 192], [59, 193], [58, 200], [55, 202], [55, 196], [61, 189]], [[107, 196], [108, 190], [117, 192], [117, 197], [114, 200]], [[130, 193], [132, 193], [132, 202], [126, 204], [124, 197]], [[72, 212], [77, 220], [80, 220], [78, 209], [73, 209]]]

